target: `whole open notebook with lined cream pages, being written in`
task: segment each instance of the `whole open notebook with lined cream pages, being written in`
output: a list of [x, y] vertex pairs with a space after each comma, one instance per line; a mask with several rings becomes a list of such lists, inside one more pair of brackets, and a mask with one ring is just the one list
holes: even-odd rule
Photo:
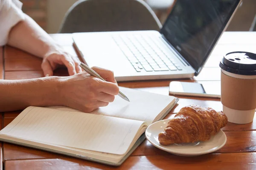
[[178, 99], [120, 88], [131, 102], [116, 96], [91, 113], [55, 106], [30, 106], [0, 131], [0, 140], [104, 164], [120, 165], [145, 139], [145, 129], [163, 119]]

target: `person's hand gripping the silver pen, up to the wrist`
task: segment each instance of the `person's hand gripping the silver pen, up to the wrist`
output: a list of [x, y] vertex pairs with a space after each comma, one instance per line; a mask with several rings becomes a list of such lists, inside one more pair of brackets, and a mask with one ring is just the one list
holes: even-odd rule
[[91, 112], [113, 102], [119, 87], [113, 72], [103, 68], [92, 68], [107, 82], [90, 76], [85, 71], [70, 77], [63, 77], [61, 103], [83, 112]]

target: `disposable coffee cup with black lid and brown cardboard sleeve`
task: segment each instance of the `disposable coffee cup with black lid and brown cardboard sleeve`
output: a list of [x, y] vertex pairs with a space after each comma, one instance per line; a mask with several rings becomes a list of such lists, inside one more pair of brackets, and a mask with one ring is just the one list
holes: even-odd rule
[[228, 122], [252, 122], [256, 110], [256, 54], [230, 52], [220, 67], [221, 103]]

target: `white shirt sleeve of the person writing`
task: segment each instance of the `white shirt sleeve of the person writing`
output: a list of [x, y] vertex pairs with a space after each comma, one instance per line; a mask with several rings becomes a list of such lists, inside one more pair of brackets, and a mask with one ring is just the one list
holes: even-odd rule
[[0, 46], [7, 43], [11, 28], [24, 20], [21, 7], [19, 0], [0, 0]]

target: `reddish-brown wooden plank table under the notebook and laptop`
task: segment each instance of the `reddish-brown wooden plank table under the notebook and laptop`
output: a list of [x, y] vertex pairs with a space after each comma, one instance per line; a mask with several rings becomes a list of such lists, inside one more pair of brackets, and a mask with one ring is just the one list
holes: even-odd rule
[[[76, 56], [76, 52], [72, 47], [71, 34], [52, 34], [51, 36], [67, 51]], [[225, 32], [199, 76], [192, 79], [179, 80], [187, 82], [198, 81], [208, 85], [212, 81], [220, 81], [218, 63], [221, 57], [228, 51], [244, 50], [256, 52], [256, 32]], [[67, 71], [58, 70], [55, 72], [55, 75], [64, 74], [67, 74]], [[42, 76], [41, 59], [9, 46], [0, 47], [0, 79], [30, 79]], [[168, 85], [171, 81], [173, 80], [120, 82], [119, 85], [168, 95]], [[212, 107], [217, 111], [222, 109], [220, 99], [178, 97], [180, 101], [166, 116], [166, 119], [173, 117], [180, 108], [190, 104]], [[3, 128], [8, 125], [19, 113], [20, 111], [2, 113], [2, 116], [0, 116], [2, 125], [0, 127]], [[256, 120], [246, 125], [228, 123], [223, 130], [227, 135], [227, 143], [214, 153], [196, 157], [175, 156], [157, 149], [145, 140], [120, 167], [106, 166], [6, 142], [3, 142], [0, 146], [3, 150], [2, 160], [5, 170], [77, 170], [97, 168], [122, 170], [256, 169]], [[0, 156], [2, 156], [2, 152]]]

